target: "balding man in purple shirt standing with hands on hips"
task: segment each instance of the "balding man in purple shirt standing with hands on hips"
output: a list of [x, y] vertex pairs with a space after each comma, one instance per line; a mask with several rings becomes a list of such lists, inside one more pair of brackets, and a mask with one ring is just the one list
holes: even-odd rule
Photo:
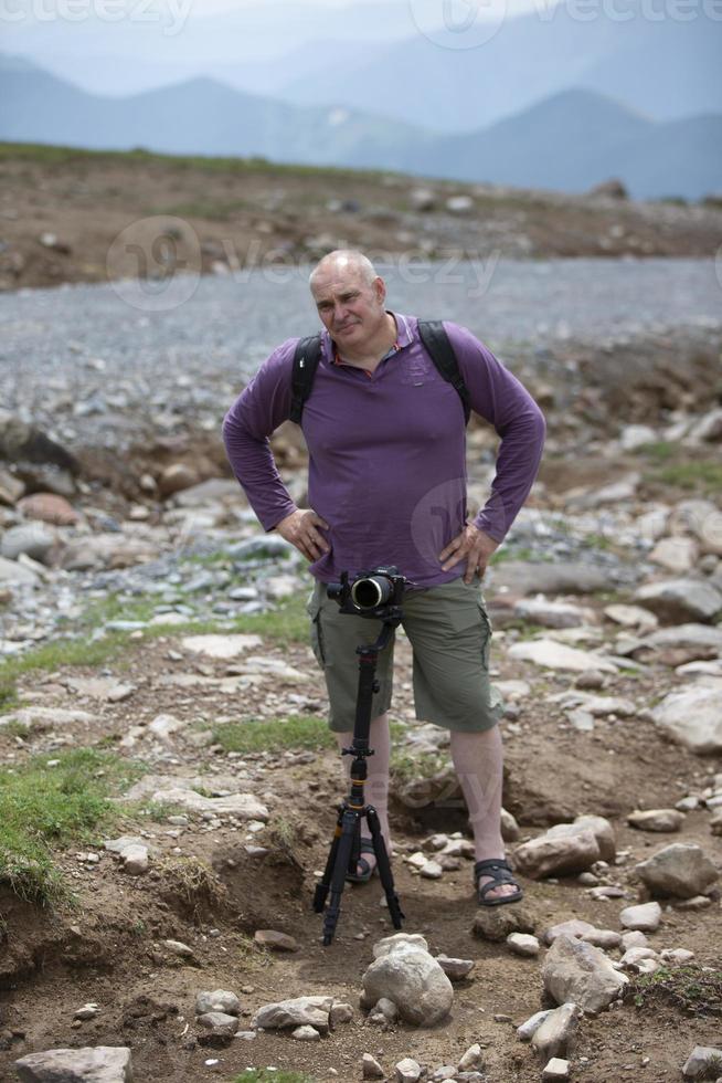
[[[343, 570], [354, 575], [391, 564], [414, 583], [404, 595], [403, 623], [414, 652], [416, 714], [450, 730], [474, 830], [479, 904], [516, 902], [522, 892], [505, 861], [500, 828], [502, 707], [489, 685], [491, 629], [479, 582], [537, 475], [543, 416], [478, 339], [444, 324], [471, 408], [501, 437], [489, 500], [468, 521], [464, 408], [422, 345], [416, 318], [386, 311], [384, 282], [360, 252], [325, 256], [310, 288], [325, 326], [301, 419], [310, 508], [291, 501], [268, 444], [289, 417], [298, 339], [274, 350], [226, 414], [229, 460], [264, 528], [278, 530], [310, 561], [312, 643], [340, 748], [352, 738], [354, 648], [375, 638], [376, 623], [341, 614], [323, 585]], [[389, 848], [392, 667], [390, 645], [379, 659], [370, 730], [375, 754], [367, 784]], [[350, 879], [371, 876], [372, 852], [362, 838], [364, 855]]]

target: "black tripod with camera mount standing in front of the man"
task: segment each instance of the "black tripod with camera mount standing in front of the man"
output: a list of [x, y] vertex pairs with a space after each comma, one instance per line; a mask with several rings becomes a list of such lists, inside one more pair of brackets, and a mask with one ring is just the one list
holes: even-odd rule
[[[389, 570], [395, 571], [395, 569]], [[341, 587], [336, 590], [336, 593], [332, 595], [331, 589], [329, 589], [329, 595], [331, 597], [336, 596], [348, 604], [346, 592], [350, 588], [348, 586], [348, 577], [344, 577], [346, 574], [342, 577]], [[397, 597], [401, 596], [401, 591], [403, 590], [403, 577], [400, 578], [402, 582], [395, 591]], [[354, 588], [359, 583], [365, 585], [374, 581], [370, 577], [364, 577], [355, 581]], [[355, 597], [363, 598], [363, 589], [358, 591]], [[353, 756], [351, 764], [351, 792], [340, 806], [326, 869], [314, 894], [314, 909], [317, 914], [323, 914], [325, 912], [323, 944], [327, 947], [333, 939], [336, 925], [341, 913], [341, 895], [343, 893], [347, 873], [354, 872], [359, 861], [361, 852], [361, 820], [363, 818], [365, 818], [371, 832], [379, 875], [386, 894], [389, 914], [391, 915], [394, 928], [401, 928], [404, 916], [394, 889], [391, 862], [389, 861], [386, 843], [381, 833], [379, 813], [372, 805], [367, 805], [363, 789], [368, 774], [367, 758], [373, 756], [373, 749], [369, 748], [369, 729], [371, 726], [372, 696], [374, 692], [379, 691], [379, 682], [375, 677], [379, 653], [389, 642], [393, 629], [401, 623], [403, 614], [399, 604], [383, 607], [371, 606], [368, 608], [373, 611], [364, 612], [363, 616], [379, 617], [383, 620], [384, 627], [375, 643], [369, 646], [362, 645], [357, 648], [357, 654], [359, 655], [359, 688], [357, 694], [355, 722], [353, 725], [353, 742], [350, 748], [344, 748], [341, 753], [343, 756]], [[344, 609], [343, 611], [350, 612], [351, 610]], [[354, 607], [354, 611], [357, 614], [359, 613], [358, 603]], [[328, 906], [326, 906], [329, 892], [331, 897]]]

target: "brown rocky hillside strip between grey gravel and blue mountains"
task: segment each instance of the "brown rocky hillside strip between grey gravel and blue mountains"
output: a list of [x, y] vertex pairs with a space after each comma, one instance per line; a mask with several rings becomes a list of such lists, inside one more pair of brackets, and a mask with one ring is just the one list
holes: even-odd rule
[[[159, 225], [168, 241], [153, 246]], [[134, 250], [145, 255], [138, 262]], [[261, 160], [0, 144], [0, 290], [162, 278], [185, 266], [314, 261], [361, 246], [407, 259], [714, 256], [719, 200], [633, 202]], [[171, 265], [172, 264], [172, 265]]]

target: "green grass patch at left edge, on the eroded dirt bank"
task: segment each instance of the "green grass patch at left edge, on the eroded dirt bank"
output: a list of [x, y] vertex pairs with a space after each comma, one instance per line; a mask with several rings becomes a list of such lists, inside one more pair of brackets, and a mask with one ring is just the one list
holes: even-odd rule
[[[49, 767], [49, 760], [57, 761]], [[51, 847], [93, 843], [118, 817], [110, 797], [142, 771], [118, 756], [75, 748], [0, 769], [0, 880], [17, 895], [52, 904], [67, 897]]]

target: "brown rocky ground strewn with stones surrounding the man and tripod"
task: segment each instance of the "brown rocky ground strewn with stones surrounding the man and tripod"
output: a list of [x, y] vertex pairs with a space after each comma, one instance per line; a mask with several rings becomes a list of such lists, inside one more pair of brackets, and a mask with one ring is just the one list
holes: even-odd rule
[[[371, 1060], [413, 1080], [405, 1059], [437, 1080], [527, 1083], [553, 1058], [591, 1083], [681, 1079], [694, 1047], [720, 1045], [722, 1011], [719, 323], [690, 305], [696, 319], [652, 324], [640, 305], [605, 338], [510, 348], [550, 433], [486, 585], [525, 897], [475, 904], [444, 734], [414, 717], [400, 632], [393, 868], [404, 932], [423, 942], [374, 961], [394, 932], [376, 880], [349, 889], [330, 947], [310, 905], [340, 764], [304, 561], [258, 534], [224, 467], [233, 358], [217, 361], [227, 387], [201, 383], [191, 324], [163, 343], [150, 320], [155, 341], [124, 371], [117, 314], [96, 302], [28, 294], [6, 320], [0, 1079], [88, 1047], [129, 1049], [135, 1077], [158, 1083], [248, 1066], [248, 1081], [350, 1083], [374, 1077]], [[49, 304], [75, 318], [74, 346], [43, 329]], [[257, 354], [276, 334], [259, 317]], [[503, 322], [498, 338], [513, 338]], [[471, 503], [495, 448], [475, 422]], [[290, 427], [274, 450], [302, 501]], [[574, 1007], [518, 1033], [554, 1005]]]

